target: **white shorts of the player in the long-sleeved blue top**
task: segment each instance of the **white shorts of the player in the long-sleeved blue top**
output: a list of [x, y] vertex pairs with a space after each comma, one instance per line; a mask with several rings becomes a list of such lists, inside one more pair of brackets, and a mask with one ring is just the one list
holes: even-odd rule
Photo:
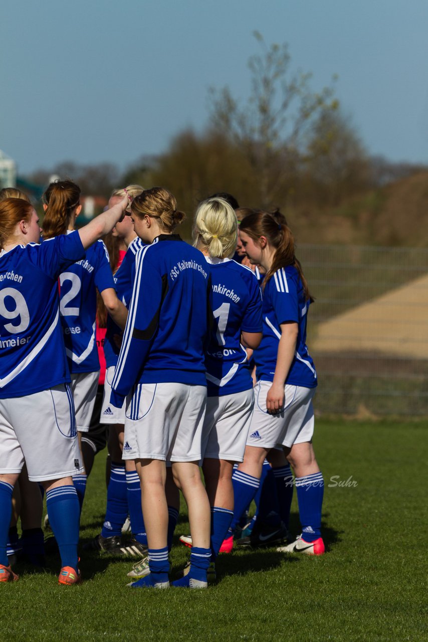
[[207, 388], [144, 383], [127, 399], [123, 459], [198, 462]]

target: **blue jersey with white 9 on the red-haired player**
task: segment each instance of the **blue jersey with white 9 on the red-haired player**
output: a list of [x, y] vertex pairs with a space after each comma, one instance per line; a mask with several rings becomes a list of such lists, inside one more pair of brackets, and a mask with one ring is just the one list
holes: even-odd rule
[[58, 276], [85, 256], [78, 232], [0, 253], [0, 398], [70, 381]]

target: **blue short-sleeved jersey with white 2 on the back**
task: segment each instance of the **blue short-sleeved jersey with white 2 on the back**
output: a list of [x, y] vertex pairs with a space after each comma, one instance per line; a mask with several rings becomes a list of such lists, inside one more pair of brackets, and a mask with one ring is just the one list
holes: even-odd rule
[[99, 292], [114, 288], [103, 241], [91, 245], [81, 261], [60, 275], [60, 314], [65, 352], [72, 373], [99, 370], [95, 340], [96, 288]]

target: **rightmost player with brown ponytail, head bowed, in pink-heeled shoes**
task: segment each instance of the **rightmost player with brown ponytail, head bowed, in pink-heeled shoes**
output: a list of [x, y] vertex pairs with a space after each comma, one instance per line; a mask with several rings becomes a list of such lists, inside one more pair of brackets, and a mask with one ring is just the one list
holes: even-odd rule
[[[322, 555], [323, 476], [312, 447], [316, 371], [306, 341], [311, 295], [295, 256], [293, 234], [271, 214], [244, 218], [241, 243], [252, 263], [266, 270], [263, 291], [263, 339], [254, 351], [257, 385], [255, 408], [244, 461], [234, 473], [235, 515], [232, 528], [259, 486], [266, 455], [284, 446], [295, 471], [302, 534], [278, 550]], [[285, 483], [285, 482], [284, 482]]]

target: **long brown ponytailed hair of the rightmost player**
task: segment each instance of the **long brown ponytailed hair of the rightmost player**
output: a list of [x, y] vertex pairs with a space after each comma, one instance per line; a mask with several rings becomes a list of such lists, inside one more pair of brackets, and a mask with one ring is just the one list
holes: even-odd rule
[[[277, 213], [275, 214], [278, 216]], [[295, 256], [295, 239], [293, 233], [286, 223], [278, 222], [278, 220], [275, 220], [274, 216], [268, 212], [257, 212], [246, 216], [244, 220], [241, 221], [239, 229], [245, 232], [245, 234], [248, 234], [248, 236], [256, 242], [259, 241], [261, 236], [265, 236], [271, 247], [275, 248], [272, 265], [264, 277], [262, 288], [277, 270], [292, 265], [296, 268], [302, 281], [305, 300], [310, 300], [311, 302], [314, 300], [309, 293], [300, 261], [298, 261]]]

